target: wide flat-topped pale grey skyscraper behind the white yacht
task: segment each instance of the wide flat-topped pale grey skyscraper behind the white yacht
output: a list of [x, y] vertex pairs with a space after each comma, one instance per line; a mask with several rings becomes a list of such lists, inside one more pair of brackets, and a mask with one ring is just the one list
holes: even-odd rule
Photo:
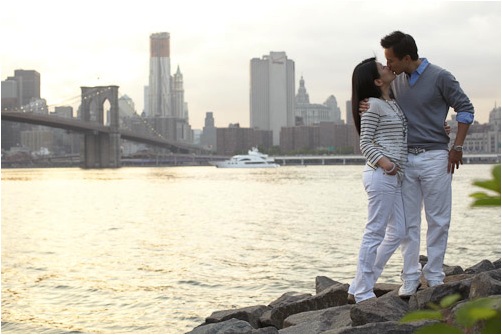
[[295, 63], [285, 52], [251, 59], [250, 126], [272, 130], [279, 145], [282, 127], [295, 125]]

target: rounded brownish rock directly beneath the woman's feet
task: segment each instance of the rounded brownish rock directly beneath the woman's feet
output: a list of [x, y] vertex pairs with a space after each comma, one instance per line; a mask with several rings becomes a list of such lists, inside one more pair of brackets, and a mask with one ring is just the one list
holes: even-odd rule
[[398, 321], [408, 312], [408, 303], [397, 292], [360, 302], [350, 310], [352, 326], [367, 323]]

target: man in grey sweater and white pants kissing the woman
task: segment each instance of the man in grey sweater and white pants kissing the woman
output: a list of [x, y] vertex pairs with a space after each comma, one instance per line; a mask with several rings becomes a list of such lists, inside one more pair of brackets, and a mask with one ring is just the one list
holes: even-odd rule
[[[392, 92], [408, 119], [408, 162], [402, 184], [406, 237], [401, 243], [404, 265], [399, 296], [413, 295], [423, 273], [428, 286], [443, 284], [443, 261], [451, 219], [451, 180], [462, 164], [462, 149], [474, 107], [455, 77], [419, 58], [415, 40], [395, 31], [380, 41], [387, 66], [398, 76]], [[458, 122], [454, 145], [444, 122], [452, 107]], [[421, 269], [420, 223], [422, 205], [427, 218], [428, 262]]]

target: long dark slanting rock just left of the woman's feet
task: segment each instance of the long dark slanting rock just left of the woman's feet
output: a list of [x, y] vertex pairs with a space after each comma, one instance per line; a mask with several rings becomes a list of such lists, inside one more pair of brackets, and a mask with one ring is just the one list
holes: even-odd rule
[[260, 322], [264, 326], [274, 326], [282, 329], [284, 320], [290, 315], [346, 305], [348, 289], [348, 284], [338, 284], [325, 289], [313, 297], [273, 307], [271, 311], [266, 312], [260, 318]]

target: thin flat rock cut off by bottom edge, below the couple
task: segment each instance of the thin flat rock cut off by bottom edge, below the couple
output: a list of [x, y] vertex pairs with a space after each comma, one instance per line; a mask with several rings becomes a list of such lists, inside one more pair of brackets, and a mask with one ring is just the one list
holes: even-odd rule
[[415, 331], [436, 321], [417, 321], [400, 323], [398, 321], [385, 321], [367, 323], [363, 326], [331, 329], [323, 334], [413, 334]]

